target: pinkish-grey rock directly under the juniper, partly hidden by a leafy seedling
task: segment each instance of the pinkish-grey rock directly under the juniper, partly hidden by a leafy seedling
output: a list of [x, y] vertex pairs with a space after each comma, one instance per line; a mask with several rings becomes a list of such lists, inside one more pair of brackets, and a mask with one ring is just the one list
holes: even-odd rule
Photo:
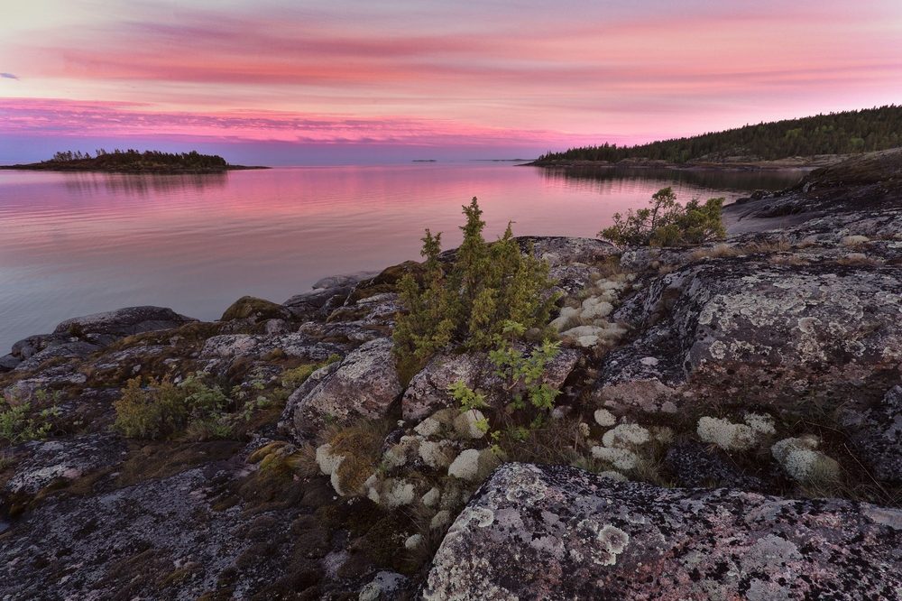
[[[524, 348], [520, 352], [527, 351]], [[580, 356], [575, 349], [562, 348], [546, 366], [542, 384], [560, 388]], [[493, 374], [494, 370], [495, 366], [484, 353], [439, 354], [433, 357], [426, 367], [413, 376], [404, 392], [401, 400], [404, 419], [422, 420], [440, 409], [456, 407], [448, 387], [457, 380], [462, 380], [470, 388], [483, 389], [485, 402], [497, 405], [500, 397], [492, 390], [499, 389], [502, 380]]]

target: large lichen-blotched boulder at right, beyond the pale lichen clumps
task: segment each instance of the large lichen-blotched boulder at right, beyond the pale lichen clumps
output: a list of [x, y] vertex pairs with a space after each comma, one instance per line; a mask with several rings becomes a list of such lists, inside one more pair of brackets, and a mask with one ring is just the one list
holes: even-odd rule
[[879, 399], [899, 382], [902, 269], [811, 255], [709, 258], [651, 282], [614, 319], [642, 335], [605, 357], [611, 407], [676, 411], [704, 398], [789, 406]]

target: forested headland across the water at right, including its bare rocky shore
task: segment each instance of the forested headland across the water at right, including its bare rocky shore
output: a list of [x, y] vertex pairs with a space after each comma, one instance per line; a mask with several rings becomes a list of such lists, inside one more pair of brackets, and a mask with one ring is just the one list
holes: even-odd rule
[[829, 167], [852, 155], [902, 145], [902, 106], [745, 125], [635, 146], [604, 143], [548, 153], [538, 167], [778, 170]]

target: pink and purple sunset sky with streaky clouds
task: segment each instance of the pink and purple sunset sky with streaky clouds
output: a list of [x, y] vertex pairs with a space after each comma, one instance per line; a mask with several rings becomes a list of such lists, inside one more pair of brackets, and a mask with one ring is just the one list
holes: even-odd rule
[[898, 0], [0, 6], [0, 162], [534, 157], [902, 103]]

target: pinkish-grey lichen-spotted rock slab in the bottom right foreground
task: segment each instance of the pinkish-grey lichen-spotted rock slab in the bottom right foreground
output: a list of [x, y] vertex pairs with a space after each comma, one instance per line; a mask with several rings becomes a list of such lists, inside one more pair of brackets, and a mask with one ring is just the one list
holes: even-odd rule
[[900, 543], [895, 509], [505, 464], [447, 532], [423, 598], [898, 599]]

